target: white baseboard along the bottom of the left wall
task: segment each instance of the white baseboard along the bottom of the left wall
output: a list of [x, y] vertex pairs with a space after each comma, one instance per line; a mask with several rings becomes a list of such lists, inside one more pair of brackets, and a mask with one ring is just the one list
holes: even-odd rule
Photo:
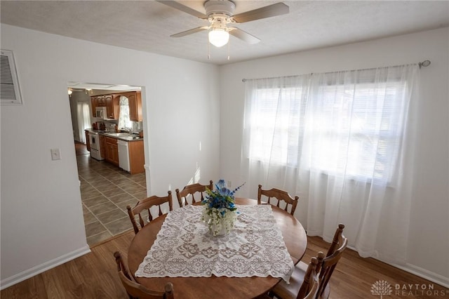
[[85, 255], [86, 253], [90, 253], [90, 252], [91, 252], [91, 249], [86, 244], [86, 246], [79, 248], [76, 251], [72, 251], [71, 253], [67, 253], [67, 254], [62, 255], [59, 258], [55, 258], [53, 260], [48, 260], [48, 262], [46, 262], [46, 263], [43, 263], [41, 265], [32, 267], [31, 269], [22, 271], [18, 274], [13, 275], [12, 277], [2, 279], [0, 281], [0, 290], [3, 290], [4, 288], [8, 288], [8, 286], [12, 286], [13, 284], [18, 284], [20, 281], [24, 281], [25, 279], [34, 277], [37, 274], [40, 274], [42, 272], [45, 272], [46, 270], [50, 270], [56, 266], [67, 263], [70, 260], [74, 260], [75, 258], [79, 258], [81, 255]]

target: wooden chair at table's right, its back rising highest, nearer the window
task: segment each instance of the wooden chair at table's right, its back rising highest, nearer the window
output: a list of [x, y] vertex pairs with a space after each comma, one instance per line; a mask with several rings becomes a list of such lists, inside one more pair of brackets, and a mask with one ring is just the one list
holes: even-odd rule
[[[318, 274], [319, 284], [314, 298], [323, 299], [329, 298], [330, 288], [328, 286], [330, 277], [332, 276], [335, 266], [337, 266], [338, 261], [342, 257], [344, 249], [347, 247], [347, 238], [344, 237], [343, 233], [344, 225], [340, 223], [337, 230], [335, 231], [332, 244], [328, 249], [328, 253], [324, 255], [321, 251], [318, 253], [316, 260], [318, 264], [316, 265], [316, 273]], [[272, 294], [276, 298], [280, 299], [293, 299], [297, 298], [300, 293], [301, 285], [306, 277], [307, 265], [304, 262], [299, 262], [293, 270], [293, 274], [290, 277], [290, 284], [286, 284], [285, 281], [280, 281], [279, 284], [272, 290]]]

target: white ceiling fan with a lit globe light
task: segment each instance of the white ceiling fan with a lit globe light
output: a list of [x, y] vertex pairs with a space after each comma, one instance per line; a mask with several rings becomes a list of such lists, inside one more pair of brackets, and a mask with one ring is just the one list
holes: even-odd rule
[[236, 4], [230, 0], [208, 0], [204, 2], [203, 6], [206, 13], [196, 11], [188, 6], [185, 6], [184, 4], [180, 4], [180, 2], [177, 1], [160, 0], [158, 2], [166, 4], [172, 8], [176, 8], [185, 13], [189, 13], [189, 15], [194, 15], [197, 18], [208, 20], [210, 23], [208, 26], [196, 27], [170, 36], [181, 37], [186, 36], [187, 34], [201, 32], [203, 30], [210, 30], [208, 35], [209, 42], [216, 47], [225, 46], [225, 44], [229, 41], [229, 34], [232, 34], [233, 36], [236, 36], [236, 38], [246, 41], [249, 44], [257, 44], [260, 41], [260, 39], [257, 39], [257, 37], [243, 31], [242, 29], [227, 27], [228, 24], [250, 22], [253, 20], [260, 20], [263, 18], [288, 13], [288, 6], [282, 2], [236, 15], [234, 15]]

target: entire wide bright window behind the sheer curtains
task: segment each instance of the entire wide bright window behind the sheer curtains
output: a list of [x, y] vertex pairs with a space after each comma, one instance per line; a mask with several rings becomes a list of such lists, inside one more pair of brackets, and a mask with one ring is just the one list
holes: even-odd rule
[[247, 90], [246, 155], [270, 166], [387, 181], [401, 147], [406, 82], [368, 70], [313, 74], [293, 86], [254, 84]]

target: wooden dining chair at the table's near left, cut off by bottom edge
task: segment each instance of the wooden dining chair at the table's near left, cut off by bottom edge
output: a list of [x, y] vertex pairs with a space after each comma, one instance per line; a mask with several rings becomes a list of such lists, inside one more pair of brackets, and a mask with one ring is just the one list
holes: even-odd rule
[[174, 291], [173, 284], [168, 282], [164, 291], [152, 291], [142, 286], [137, 281], [135, 281], [133, 275], [128, 271], [128, 267], [123, 262], [121, 258], [121, 253], [119, 251], [114, 252], [114, 258], [117, 263], [117, 269], [119, 270], [119, 277], [121, 284], [125, 287], [126, 293], [130, 299], [173, 299]]

